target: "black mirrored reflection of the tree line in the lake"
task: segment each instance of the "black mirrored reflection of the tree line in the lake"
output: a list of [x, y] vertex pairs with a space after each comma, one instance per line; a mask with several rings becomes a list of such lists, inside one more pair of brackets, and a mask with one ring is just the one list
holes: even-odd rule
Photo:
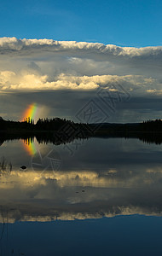
[[[25, 145], [34, 147], [35, 142], [37, 143], [53, 143], [54, 145], [60, 145], [60, 144], [66, 144], [66, 143], [72, 143], [74, 140], [88, 140], [91, 137], [100, 137], [100, 138], [125, 138], [125, 139], [139, 139], [143, 143], [154, 143], [154, 144], [161, 144], [162, 143], [162, 133], [161, 132], [130, 132], [130, 133], [124, 133], [124, 132], [108, 132], [108, 131], [82, 131], [79, 134], [75, 133], [68, 133], [68, 132], [20, 132], [19, 133], [6, 133], [6, 132], [0, 132], [0, 146], [3, 145], [5, 141], [9, 142], [11, 140], [22, 140]], [[33, 149], [32, 149], [33, 150]], [[34, 149], [35, 152], [35, 149]]]

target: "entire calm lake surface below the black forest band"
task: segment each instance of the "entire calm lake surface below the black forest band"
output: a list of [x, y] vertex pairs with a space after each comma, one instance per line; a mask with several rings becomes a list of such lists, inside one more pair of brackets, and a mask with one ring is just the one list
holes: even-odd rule
[[162, 254], [162, 145], [15, 140], [0, 155], [0, 255]]

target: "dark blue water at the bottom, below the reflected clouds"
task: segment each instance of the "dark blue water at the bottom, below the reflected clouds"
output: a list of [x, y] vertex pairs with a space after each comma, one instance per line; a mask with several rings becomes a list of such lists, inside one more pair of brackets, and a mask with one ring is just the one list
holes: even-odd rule
[[18, 222], [8, 225], [8, 238], [5, 230], [1, 252], [31, 256], [161, 255], [161, 241], [159, 217], [132, 215], [51, 223]]

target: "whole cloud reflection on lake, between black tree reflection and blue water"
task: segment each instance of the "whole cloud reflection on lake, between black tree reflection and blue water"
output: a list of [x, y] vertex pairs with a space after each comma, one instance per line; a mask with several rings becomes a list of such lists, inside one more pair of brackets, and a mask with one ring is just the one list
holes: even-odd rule
[[1, 223], [161, 216], [159, 145], [92, 138], [70, 155], [64, 144], [43, 145], [33, 138], [11, 140], [0, 149], [6, 163], [12, 162], [12, 170], [0, 170]]

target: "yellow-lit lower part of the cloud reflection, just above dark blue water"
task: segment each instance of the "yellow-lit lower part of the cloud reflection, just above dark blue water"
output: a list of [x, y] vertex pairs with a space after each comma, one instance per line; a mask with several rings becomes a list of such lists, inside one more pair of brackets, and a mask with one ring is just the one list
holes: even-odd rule
[[162, 168], [136, 172], [12, 171], [0, 177], [0, 221], [51, 221], [127, 214], [161, 216]]

